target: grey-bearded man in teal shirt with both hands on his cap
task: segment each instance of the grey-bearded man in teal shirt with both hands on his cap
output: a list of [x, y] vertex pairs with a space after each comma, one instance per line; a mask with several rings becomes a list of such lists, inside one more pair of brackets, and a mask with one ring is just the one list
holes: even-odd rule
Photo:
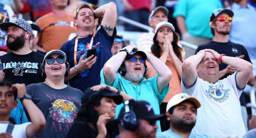
[[[159, 105], [168, 93], [172, 72], [160, 59], [137, 49], [139, 50], [134, 45], [127, 46], [111, 57], [100, 72], [100, 83], [119, 88], [136, 100], [149, 102], [154, 113], [160, 114]], [[158, 73], [153, 78], [145, 79], [143, 77], [147, 70], [146, 59]], [[116, 116], [121, 107], [117, 106]], [[157, 125], [159, 126], [158, 131], [160, 131], [159, 121]]]

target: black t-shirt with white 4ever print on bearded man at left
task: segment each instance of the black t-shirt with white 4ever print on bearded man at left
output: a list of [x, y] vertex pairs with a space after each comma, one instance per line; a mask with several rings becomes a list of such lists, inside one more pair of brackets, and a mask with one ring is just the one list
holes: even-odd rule
[[26, 86], [44, 81], [40, 70], [43, 58], [44, 55], [34, 51], [26, 55], [10, 52], [0, 56], [5, 78], [13, 83], [25, 83]]

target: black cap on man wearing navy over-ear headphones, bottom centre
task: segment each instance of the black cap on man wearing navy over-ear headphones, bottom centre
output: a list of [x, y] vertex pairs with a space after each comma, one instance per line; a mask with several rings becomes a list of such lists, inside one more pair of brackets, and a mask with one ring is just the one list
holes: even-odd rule
[[[147, 101], [135, 101], [129, 100], [129, 108], [132, 110], [137, 119], [150, 119], [150, 120], [163, 120], [166, 119], [165, 114], [156, 115], [154, 114], [153, 107]], [[125, 107], [123, 107], [119, 113], [118, 119], [122, 118], [125, 112]]]

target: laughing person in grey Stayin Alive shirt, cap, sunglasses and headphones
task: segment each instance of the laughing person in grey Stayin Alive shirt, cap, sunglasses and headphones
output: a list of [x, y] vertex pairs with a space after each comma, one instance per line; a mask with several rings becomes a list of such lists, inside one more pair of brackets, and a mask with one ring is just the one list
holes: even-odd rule
[[69, 64], [61, 50], [46, 53], [41, 70], [45, 82], [27, 86], [32, 101], [46, 119], [47, 125], [38, 138], [66, 137], [80, 109], [83, 93], [64, 84], [64, 77], [69, 75]]

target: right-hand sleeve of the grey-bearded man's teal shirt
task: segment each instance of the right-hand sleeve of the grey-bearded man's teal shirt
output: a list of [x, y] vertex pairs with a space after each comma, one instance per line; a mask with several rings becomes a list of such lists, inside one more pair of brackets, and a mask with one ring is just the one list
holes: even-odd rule
[[167, 95], [168, 91], [169, 91], [169, 83], [167, 86], [165, 86], [165, 88], [159, 93], [158, 89], [157, 89], [157, 79], [158, 79], [158, 74], [153, 77], [153, 78], [149, 78], [152, 88], [154, 90], [155, 95], [157, 96], [158, 99], [158, 103], [159, 105], [163, 102], [163, 99], [165, 98], [165, 96]]

